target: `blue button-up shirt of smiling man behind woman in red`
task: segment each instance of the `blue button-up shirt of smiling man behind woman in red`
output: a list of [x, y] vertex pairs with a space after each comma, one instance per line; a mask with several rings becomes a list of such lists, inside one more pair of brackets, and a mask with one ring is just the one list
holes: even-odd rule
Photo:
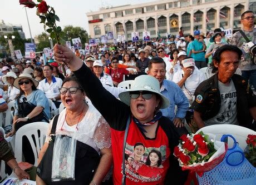
[[[163, 94], [170, 101], [170, 106], [165, 109], [161, 109], [163, 116], [168, 117], [173, 121], [176, 118], [185, 118], [186, 111], [189, 108], [189, 101], [186, 98], [184, 92], [181, 88], [174, 82], [164, 79], [161, 86], [161, 94]], [[175, 106], [178, 107], [175, 116]]]

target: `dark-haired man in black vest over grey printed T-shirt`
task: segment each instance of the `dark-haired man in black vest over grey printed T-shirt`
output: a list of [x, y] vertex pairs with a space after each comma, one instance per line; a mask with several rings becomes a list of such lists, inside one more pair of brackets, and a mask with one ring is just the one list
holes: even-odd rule
[[213, 73], [218, 73], [196, 88], [195, 101], [191, 106], [198, 128], [213, 124], [238, 124], [253, 129], [256, 96], [246, 79], [234, 74], [241, 56], [242, 51], [237, 46], [228, 44], [215, 52], [211, 69]]

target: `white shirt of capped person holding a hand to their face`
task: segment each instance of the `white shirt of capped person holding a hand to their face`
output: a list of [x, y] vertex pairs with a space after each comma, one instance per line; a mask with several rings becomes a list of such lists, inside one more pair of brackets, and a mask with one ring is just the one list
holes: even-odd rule
[[[173, 76], [173, 81], [175, 83], [178, 83], [181, 81], [181, 79], [184, 76], [184, 71], [178, 71]], [[205, 76], [202, 72], [198, 70], [198, 68], [194, 69], [194, 72], [186, 79], [184, 85], [181, 87], [183, 89], [184, 94], [189, 100], [189, 103], [191, 104], [193, 101], [195, 89], [199, 86], [201, 82], [205, 80]]]

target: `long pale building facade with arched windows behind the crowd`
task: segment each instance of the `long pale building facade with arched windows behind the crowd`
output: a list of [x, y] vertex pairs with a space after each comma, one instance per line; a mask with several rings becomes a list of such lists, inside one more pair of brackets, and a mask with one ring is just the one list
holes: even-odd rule
[[113, 32], [114, 38], [124, 34], [131, 40], [132, 32], [150, 31], [151, 38], [176, 35], [183, 27], [184, 34], [192, 34], [195, 26], [202, 33], [215, 28], [240, 29], [240, 15], [251, 9], [256, 12], [255, 0], [180, 0], [156, 1], [143, 4], [101, 8], [86, 13], [91, 38]]

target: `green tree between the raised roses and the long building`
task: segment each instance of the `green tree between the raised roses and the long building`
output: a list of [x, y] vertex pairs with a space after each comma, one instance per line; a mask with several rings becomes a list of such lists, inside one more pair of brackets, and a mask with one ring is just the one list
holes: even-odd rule
[[63, 31], [62, 31], [63, 39], [65, 41], [71, 41], [72, 38], [77, 38], [80, 37], [81, 43], [83, 46], [85, 46], [85, 43], [88, 43], [88, 33], [86, 32], [85, 29], [82, 27], [73, 27], [73, 26], [65, 26]]

